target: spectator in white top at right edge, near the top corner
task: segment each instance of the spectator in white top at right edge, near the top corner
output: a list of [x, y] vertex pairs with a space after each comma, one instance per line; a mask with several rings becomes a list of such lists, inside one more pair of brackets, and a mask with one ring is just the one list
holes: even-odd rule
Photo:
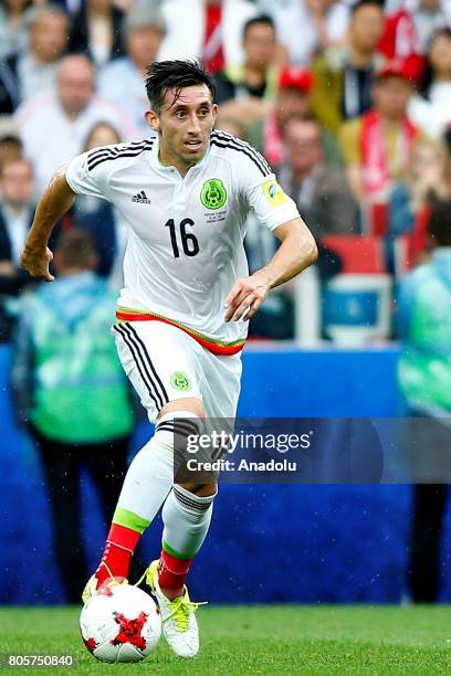
[[426, 134], [436, 138], [451, 128], [451, 28], [439, 30], [432, 38], [422, 96], [411, 98], [409, 116]]

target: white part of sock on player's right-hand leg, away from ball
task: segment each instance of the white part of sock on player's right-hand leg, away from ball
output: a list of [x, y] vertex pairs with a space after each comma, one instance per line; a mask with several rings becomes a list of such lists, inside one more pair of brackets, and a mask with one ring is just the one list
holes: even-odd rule
[[214, 496], [200, 497], [174, 485], [161, 511], [162, 548], [168, 553], [181, 559], [197, 554], [210, 527]]

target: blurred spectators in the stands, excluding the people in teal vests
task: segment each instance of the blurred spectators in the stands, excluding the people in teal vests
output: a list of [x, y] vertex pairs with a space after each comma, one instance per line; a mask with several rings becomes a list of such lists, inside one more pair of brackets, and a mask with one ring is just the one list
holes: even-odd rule
[[[177, 57], [203, 60], [217, 126], [254, 145], [296, 201], [319, 243], [319, 304], [346, 273], [396, 289], [430, 255], [431, 219], [451, 220], [451, 2], [0, 0], [1, 341], [31, 283], [19, 256], [46, 182], [84, 150], [148, 136], [145, 68]], [[117, 289], [120, 215], [78, 198], [51, 244], [73, 228]], [[276, 242], [250, 219], [245, 245], [255, 270]], [[289, 285], [252, 335], [293, 338], [295, 310]]]

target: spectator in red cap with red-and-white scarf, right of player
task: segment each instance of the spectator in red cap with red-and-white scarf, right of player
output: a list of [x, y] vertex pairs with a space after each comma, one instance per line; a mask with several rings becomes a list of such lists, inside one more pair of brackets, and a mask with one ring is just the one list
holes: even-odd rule
[[[347, 176], [355, 198], [365, 205], [386, 205], [394, 182], [408, 166], [417, 127], [407, 116], [412, 95], [410, 73], [402, 63], [381, 68], [374, 82], [374, 107], [363, 116], [343, 125], [339, 142], [347, 166]], [[368, 214], [370, 231], [385, 231], [386, 213], [378, 212], [384, 223], [376, 224], [376, 210]]]

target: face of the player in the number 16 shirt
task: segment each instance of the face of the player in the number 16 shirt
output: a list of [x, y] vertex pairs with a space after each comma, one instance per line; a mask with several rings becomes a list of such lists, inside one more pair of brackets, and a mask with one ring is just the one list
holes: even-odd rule
[[158, 131], [161, 161], [177, 168], [196, 165], [207, 152], [218, 107], [207, 85], [193, 85], [166, 93], [161, 110], [147, 113], [147, 122]]

